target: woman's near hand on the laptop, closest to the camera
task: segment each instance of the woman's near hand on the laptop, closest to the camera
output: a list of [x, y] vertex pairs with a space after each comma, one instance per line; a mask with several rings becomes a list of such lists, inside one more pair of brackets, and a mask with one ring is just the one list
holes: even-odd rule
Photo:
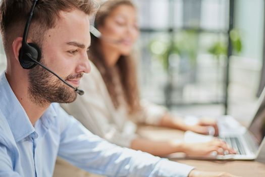
[[236, 151], [218, 139], [205, 143], [184, 143], [183, 152], [188, 156], [236, 154]]

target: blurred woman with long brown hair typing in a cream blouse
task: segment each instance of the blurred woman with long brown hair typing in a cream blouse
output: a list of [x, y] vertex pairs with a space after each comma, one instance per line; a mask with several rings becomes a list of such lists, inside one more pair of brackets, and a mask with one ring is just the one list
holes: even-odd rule
[[199, 122], [187, 125], [172, 117], [164, 107], [140, 101], [136, 80], [135, 61], [131, 56], [139, 29], [136, 10], [131, 1], [107, 1], [95, 16], [95, 27], [101, 32], [100, 39], [91, 35], [89, 59], [94, 63], [92, 71], [81, 81], [86, 95], [78, 97], [65, 110], [74, 115], [94, 134], [120, 146], [141, 150], [157, 156], [174, 152], [187, 155], [209, 155], [213, 151], [235, 153], [224, 142], [207, 143], [157, 142], [139, 137], [136, 123], [146, 123], [191, 130], [208, 134], [208, 126], [215, 122]]

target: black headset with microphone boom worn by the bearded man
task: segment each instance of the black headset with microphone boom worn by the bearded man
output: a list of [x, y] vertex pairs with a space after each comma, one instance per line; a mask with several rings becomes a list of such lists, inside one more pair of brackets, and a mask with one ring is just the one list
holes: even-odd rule
[[64, 79], [62, 79], [60, 76], [58, 76], [55, 72], [51, 71], [44, 65], [42, 65], [39, 61], [41, 58], [41, 50], [35, 43], [28, 43], [27, 37], [28, 37], [28, 30], [30, 26], [31, 19], [33, 17], [33, 12], [36, 7], [38, 0], [33, 0], [33, 5], [31, 7], [29, 17], [26, 22], [26, 26], [23, 33], [23, 39], [22, 39], [22, 47], [19, 51], [19, 63], [24, 69], [32, 69], [36, 65], [40, 65], [42, 68], [46, 69], [50, 73], [54, 74], [57, 78], [59, 78], [62, 82], [70, 86], [77, 94], [84, 95], [83, 90], [79, 90], [76, 87], [72, 86], [68, 82], [66, 82]]

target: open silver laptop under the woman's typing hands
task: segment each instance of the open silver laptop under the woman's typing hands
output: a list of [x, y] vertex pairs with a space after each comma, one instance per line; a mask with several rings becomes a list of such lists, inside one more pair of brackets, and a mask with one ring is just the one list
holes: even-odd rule
[[[253, 160], [258, 156], [265, 157], [265, 154], [263, 154], [265, 153], [265, 88], [258, 99], [257, 109], [247, 128], [242, 126], [232, 116], [227, 115], [218, 119], [218, 127], [220, 130], [218, 138], [227, 142], [228, 145], [237, 151], [237, 154], [184, 157], [183, 154], [174, 153], [169, 155], [168, 158]], [[184, 134], [184, 141], [189, 143], [206, 142], [213, 138], [212, 136], [199, 135], [191, 131], [187, 131]]]

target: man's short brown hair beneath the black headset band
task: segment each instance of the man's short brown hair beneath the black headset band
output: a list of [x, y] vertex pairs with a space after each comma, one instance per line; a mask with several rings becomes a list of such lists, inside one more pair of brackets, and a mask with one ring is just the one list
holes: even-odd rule
[[[32, 4], [33, 0], [2, 0], [0, 24], [6, 53], [13, 40], [22, 37]], [[29, 37], [40, 45], [43, 33], [56, 26], [61, 11], [79, 9], [91, 15], [97, 8], [98, 4], [94, 0], [39, 0], [34, 9]]]

